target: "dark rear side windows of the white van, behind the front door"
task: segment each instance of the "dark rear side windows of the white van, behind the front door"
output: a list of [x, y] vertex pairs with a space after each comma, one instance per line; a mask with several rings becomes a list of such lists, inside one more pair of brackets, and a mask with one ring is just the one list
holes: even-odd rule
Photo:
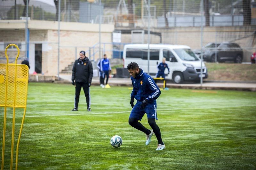
[[[159, 60], [160, 50], [150, 50], [149, 59]], [[148, 49], [126, 49], [126, 58], [140, 58], [142, 60], [148, 60]]]

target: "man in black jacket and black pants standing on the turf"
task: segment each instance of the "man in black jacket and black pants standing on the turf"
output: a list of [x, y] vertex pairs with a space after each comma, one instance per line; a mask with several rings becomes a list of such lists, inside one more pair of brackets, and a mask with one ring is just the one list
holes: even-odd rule
[[75, 61], [72, 69], [71, 81], [76, 87], [75, 108], [72, 111], [78, 111], [78, 102], [82, 87], [86, 97], [87, 111], [91, 111], [90, 86], [93, 76], [92, 62], [85, 56], [84, 51], [81, 51], [79, 55], [80, 57]]

